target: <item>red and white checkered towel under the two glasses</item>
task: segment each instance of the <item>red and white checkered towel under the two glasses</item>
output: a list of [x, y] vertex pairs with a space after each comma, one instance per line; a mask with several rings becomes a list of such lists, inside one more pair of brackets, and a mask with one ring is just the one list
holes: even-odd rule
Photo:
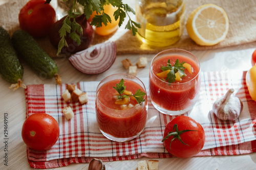
[[[206, 141], [203, 150], [196, 156], [240, 155], [256, 152], [256, 102], [252, 101], [245, 83], [246, 72], [202, 72], [200, 97], [188, 115], [204, 128]], [[148, 90], [148, 78], [141, 79]], [[99, 131], [95, 115], [95, 94], [99, 82], [79, 82], [77, 88], [86, 91], [89, 102], [65, 102], [61, 94], [66, 84], [28, 85], [25, 90], [27, 112], [48, 113], [58, 122], [59, 139], [44, 152], [27, 148], [28, 161], [34, 168], [53, 168], [70, 163], [90, 162], [93, 158], [102, 161], [129, 160], [142, 156], [150, 158], [173, 157], [161, 142], [166, 124], [175, 116], [159, 113], [148, 98], [148, 119], [143, 133], [129, 142], [114, 142]], [[223, 121], [211, 112], [212, 104], [226, 93], [235, 90], [244, 108], [235, 121]], [[75, 116], [67, 120], [62, 108], [71, 106]], [[187, 115], [187, 114], [185, 114]]]

